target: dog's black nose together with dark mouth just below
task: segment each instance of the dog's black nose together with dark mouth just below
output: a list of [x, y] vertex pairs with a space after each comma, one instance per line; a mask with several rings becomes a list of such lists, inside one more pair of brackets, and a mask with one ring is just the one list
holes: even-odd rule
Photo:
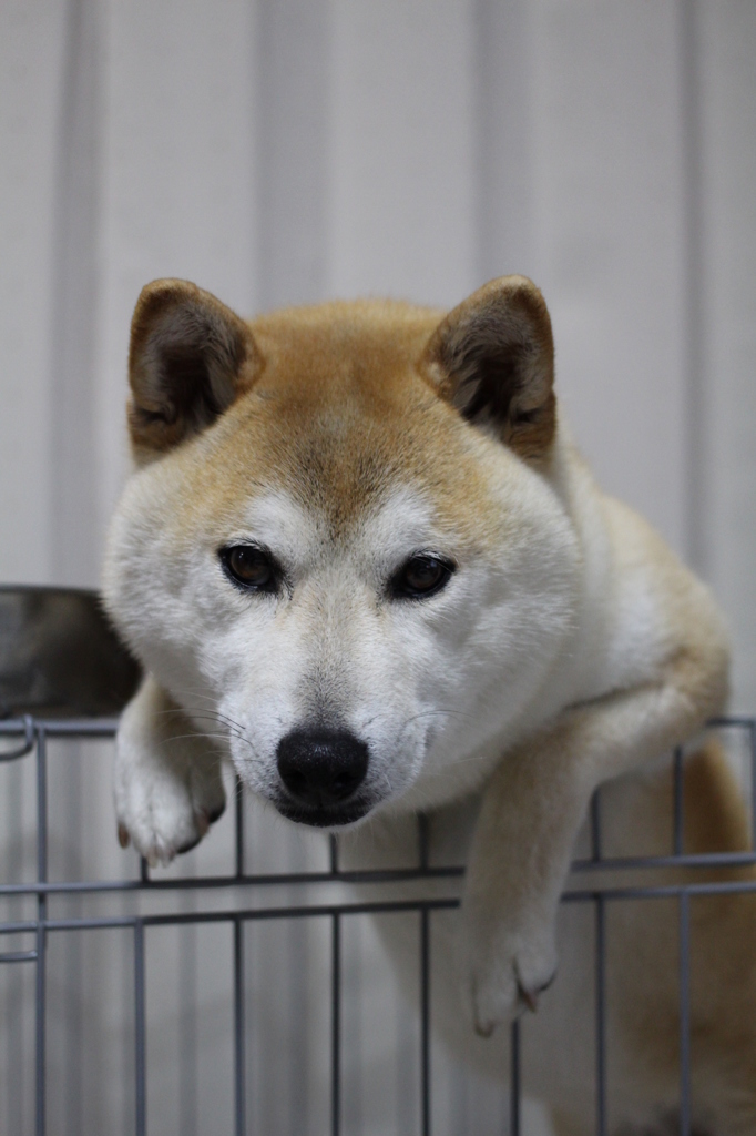
[[327, 828], [359, 820], [369, 809], [358, 791], [368, 772], [368, 746], [347, 730], [295, 729], [278, 743], [284, 816]]

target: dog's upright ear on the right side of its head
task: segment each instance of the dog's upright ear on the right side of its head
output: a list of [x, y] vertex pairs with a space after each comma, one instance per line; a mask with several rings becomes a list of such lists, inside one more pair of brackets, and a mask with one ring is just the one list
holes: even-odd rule
[[442, 320], [423, 365], [439, 395], [520, 457], [545, 457], [556, 431], [554, 340], [526, 276], [485, 284]]

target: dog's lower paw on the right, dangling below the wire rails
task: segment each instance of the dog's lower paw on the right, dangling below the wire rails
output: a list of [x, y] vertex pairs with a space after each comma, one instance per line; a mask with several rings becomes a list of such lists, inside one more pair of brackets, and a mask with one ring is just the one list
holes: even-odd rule
[[538, 995], [554, 980], [554, 928], [515, 928], [495, 917], [470, 916], [464, 927], [465, 1001], [476, 1033], [490, 1037], [497, 1026], [535, 1011]]

